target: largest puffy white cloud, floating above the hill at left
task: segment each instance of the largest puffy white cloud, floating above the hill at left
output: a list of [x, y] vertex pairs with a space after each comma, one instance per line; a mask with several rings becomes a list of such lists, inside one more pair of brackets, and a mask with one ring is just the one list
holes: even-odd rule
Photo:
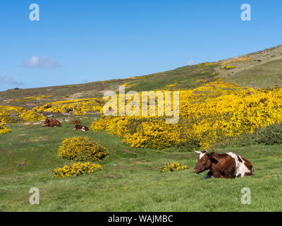
[[23, 65], [30, 69], [55, 69], [60, 65], [49, 57], [33, 56], [30, 60], [23, 61]]

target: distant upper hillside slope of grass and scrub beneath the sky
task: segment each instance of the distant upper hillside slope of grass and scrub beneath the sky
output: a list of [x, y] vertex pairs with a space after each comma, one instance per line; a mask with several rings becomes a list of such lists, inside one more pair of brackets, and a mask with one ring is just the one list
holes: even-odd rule
[[[238, 59], [245, 58], [250, 59], [224, 64], [228, 61], [237, 61]], [[128, 90], [136, 91], [168, 88], [171, 90], [184, 90], [195, 88], [202, 85], [202, 83], [208, 83], [216, 78], [224, 78], [225, 81], [252, 88], [270, 88], [275, 85], [282, 85], [282, 45], [240, 57], [216, 61], [215, 63], [217, 64], [184, 66], [171, 71], [110, 81], [23, 90], [6, 90], [0, 92], [0, 105], [13, 105], [31, 109], [32, 107], [56, 100], [101, 97], [106, 90], [118, 90], [118, 85], [124, 84], [131, 85], [128, 87]], [[231, 70], [222, 69], [224, 65], [232, 65], [235, 68]], [[167, 86], [172, 84], [175, 85]], [[7, 103], [9, 100], [39, 95], [51, 96], [44, 97], [40, 100], [26, 100], [25, 102], [11, 101]]]

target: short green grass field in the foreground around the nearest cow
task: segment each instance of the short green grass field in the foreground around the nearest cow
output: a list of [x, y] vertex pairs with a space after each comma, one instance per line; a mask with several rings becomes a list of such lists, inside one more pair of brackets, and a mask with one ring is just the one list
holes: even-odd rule
[[[87, 126], [93, 115], [83, 118]], [[1, 211], [281, 211], [281, 145], [224, 148], [246, 157], [255, 175], [236, 179], [206, 179], [194, 174], [196, 153], [176, 148], [129, 148], [105, 132], [47, 128], [40, 124], [11, 124], [12, 133], [0, 136]], [[52, 169], [63, 165], [57, 148], [64, 138], [89, 136], [102, 143], [110, 155], [99, 164], [101, 172], [71, 178], [51, 178]], [[164, 164], [178, 161], [188, 169], [161, 173]], [[29, 203], [29, 190], [37, 187], [39, 205]], [[251, 190], [251, 204], [241, 203], [243, 187]]]

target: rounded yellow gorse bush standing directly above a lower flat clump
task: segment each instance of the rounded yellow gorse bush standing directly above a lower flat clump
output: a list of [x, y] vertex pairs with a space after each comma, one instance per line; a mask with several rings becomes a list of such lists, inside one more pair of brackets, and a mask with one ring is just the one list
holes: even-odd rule
[[109, 155], [109, 150], [99, 143], [90, 141], [88, 137], [66, 138], [59, 147], [59, 157], [68, 160], [96, 161], [106, 155]]

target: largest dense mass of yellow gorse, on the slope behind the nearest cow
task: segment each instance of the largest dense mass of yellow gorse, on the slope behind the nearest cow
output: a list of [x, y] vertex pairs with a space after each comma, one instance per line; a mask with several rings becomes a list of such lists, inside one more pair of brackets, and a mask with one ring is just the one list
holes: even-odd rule
[[218, 80], [180, 90], [178, 124], [166, 124], [164, 117], [102, 116], [91, 129], [119, 136], [135, 148], [161, 149], [195, 141], [204, 149], [281, 122], [281, 88], [255, 90]]

